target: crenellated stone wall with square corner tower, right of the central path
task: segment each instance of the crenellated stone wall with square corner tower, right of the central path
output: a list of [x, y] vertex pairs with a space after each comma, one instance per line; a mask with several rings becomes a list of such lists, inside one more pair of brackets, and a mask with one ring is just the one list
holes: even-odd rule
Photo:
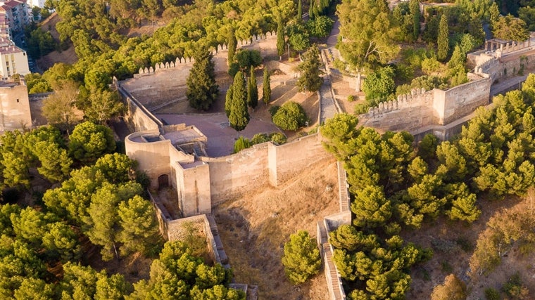
[[379, 103], [359, 116], [360, 124], [379, 131], [405, 130], [415, 136], [435, 133], [446, 139], [460, 130], [462, 124], [454, 124], [456, 121], [479, 106], [489, 105], [492, 84], [535, 67], [535, 45], [531, 46], [531, 40], [490, 40], [486, 41], [485, 50], [468, 54], [467, 62], [474, 66], [467, 73], [469, 82], [446, 91], [416, 89], [396, 100]]

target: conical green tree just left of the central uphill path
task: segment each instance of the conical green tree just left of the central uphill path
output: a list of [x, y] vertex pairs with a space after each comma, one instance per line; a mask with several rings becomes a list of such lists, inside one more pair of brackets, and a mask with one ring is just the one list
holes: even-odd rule
[[320, 89], [323, 83], [323, 79], [320, 77], [323, 73], [320, 66], [320, 50], [314, 44], [304, 54], [303, 63], [298, 65], [301, 76], [297, 80], [296, 86], [299, 87], [299, 91], [315, 92]]

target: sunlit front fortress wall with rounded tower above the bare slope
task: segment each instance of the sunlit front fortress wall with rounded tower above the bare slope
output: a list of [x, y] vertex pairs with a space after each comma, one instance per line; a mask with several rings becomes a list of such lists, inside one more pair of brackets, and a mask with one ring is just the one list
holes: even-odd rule
[[[173, 133], [197, 130], [194, 126], [181, 124], [163, 129], [164, 133], [149, 130], [130, 134], [125, 139], [126, 153], [139, 162], [139, 169], [146, 171], [151, 188], [158, 188], [160, 176], [169, 176], [184, 216], [209, 214], [213, 205], [263, 186], [277, 186], [330, 157], [317, 133], [280, 146], [261, 143], [226, 157], [197, 157], [179, 149], [179, 142], [189, 140], [168, 139]], [[206, 143], [206, 137], [201, 142]]]

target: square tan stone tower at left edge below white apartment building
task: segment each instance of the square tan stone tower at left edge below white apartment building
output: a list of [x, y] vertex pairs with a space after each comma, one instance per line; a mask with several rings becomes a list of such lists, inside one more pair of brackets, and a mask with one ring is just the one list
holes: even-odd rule
[[0, 131], [31, 126], [30, 100], [23, 77], [18, 82], [0, 81]]

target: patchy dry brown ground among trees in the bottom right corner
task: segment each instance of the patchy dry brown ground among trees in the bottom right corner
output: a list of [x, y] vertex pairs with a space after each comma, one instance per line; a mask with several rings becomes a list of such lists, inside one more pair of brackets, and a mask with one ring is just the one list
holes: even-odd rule
[[482, 214], [472, 224], [449, 221], [446, 217], [441, 217], [434, 223], [425, 224], [420, 230], [402, 234], [408, 242], [432, 248], [434, 251], [430, 261], [413, 268], [410, 274], [413, 283], [407, 299], [429, 299], [432, 289], [442, 284], [450, 273], [458, 275], [467, 283], [467, 299], [484, 299], [484, 289], [494, 287], [499, 290], [516, 270], [520, 271], [522, 282], [530, 289], [531, 296], [534, 295], [535, 254], [521, 256], [515, 248], [507, 257], [502, 258], [501, 265], [489, 275], [483, 275], [475, 281], [468, 277], [470, 257], [477, 238], [485, 230], [491, 216], [498, 214], [501, 209], [525, 205], [516, 198], [502, 201], [481, 199], [480, 203]]

